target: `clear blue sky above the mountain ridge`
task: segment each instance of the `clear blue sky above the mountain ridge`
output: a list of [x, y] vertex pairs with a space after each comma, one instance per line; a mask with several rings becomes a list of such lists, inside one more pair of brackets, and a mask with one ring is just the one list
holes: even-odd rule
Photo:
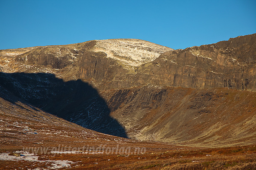
[[184, 49], [256, 33], [255, 9], [255, 0], [0, 0], [0, 49], [112, 38]]

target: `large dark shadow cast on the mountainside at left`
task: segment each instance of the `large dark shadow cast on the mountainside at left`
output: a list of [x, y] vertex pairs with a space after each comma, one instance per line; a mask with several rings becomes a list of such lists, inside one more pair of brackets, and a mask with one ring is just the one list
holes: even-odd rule
[[[110, 110], [97, 90], [81, 80], [64, 82], [48, 73], [0, 72], [0, 86], [33, 106], [67, 121], [128, 138], [124, 128], [109, 116]], [[1, 97], [8, 100], [5, 96]]]

